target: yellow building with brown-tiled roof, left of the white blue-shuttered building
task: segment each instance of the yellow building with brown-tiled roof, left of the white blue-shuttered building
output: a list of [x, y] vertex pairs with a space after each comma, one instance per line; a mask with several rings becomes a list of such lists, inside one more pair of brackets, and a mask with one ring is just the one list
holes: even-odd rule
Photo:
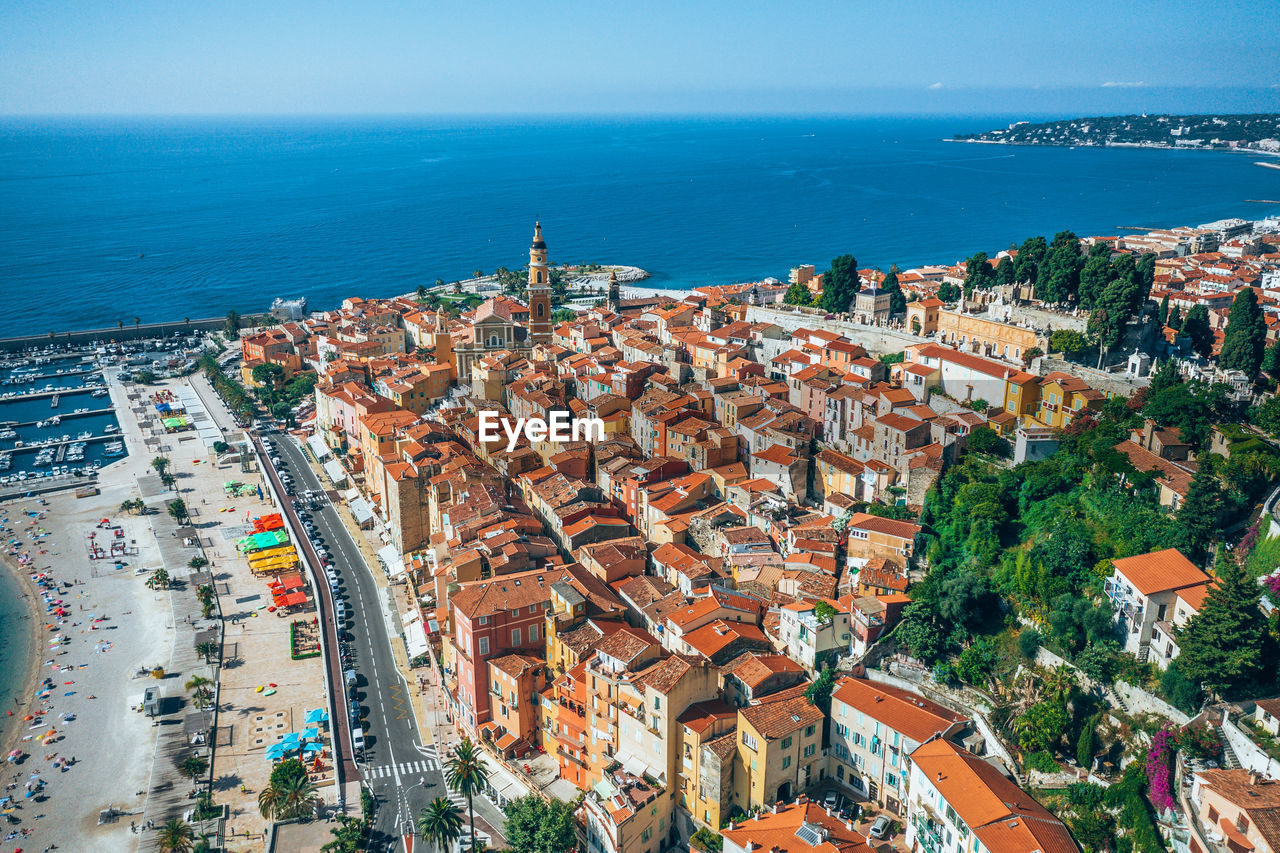
[[739, 708], [735, 804], [750, 811], [790, 803], [826, 777], [822, 721], [822, 711], [799, 686]]

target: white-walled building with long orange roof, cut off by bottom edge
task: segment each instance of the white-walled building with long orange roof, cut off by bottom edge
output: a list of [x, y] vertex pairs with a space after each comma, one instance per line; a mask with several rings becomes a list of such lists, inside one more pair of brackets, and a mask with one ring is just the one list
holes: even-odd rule
[[1066, 825], [1004, 771], [945, 738], [911, 753], [906, 847], [924, 853], [1075, 853]]

